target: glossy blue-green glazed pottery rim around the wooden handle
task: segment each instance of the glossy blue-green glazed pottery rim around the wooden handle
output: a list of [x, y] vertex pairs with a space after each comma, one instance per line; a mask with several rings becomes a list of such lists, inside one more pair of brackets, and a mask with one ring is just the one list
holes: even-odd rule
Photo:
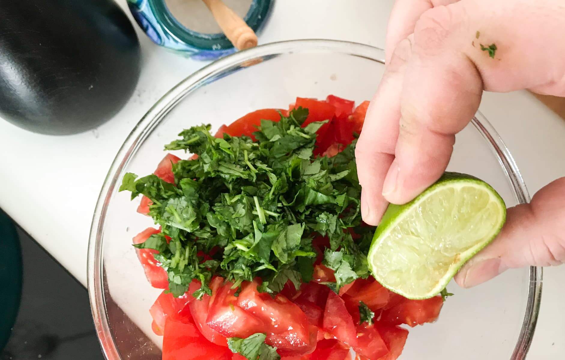
[[[236, 51], [223, 33], [205, 34], [186, 28], [167, 8], [165, 0], [127, 0], [137, 24], [157, 45], [198, 60], [215, 60]], [[245, 22], [259, 32], [275, 0], [253, 0]]]

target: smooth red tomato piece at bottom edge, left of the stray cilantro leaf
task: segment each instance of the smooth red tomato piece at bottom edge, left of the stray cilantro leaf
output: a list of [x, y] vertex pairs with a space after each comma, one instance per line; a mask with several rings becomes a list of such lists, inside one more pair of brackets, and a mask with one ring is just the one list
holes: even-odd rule
[[199, 331], [192, 317], [184, 321], [167, 318], [163, 335], [163, 360], [231, 360], [233, 353], [224, 346], [210, 343]]

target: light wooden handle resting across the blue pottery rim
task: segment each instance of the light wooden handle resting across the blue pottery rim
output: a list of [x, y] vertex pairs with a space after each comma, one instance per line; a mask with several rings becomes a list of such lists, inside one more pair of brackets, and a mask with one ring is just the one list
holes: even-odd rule
[[221, 0], [202, 0], [212, 12], [225, 36], [238, 50], [257, 46], [257, 34]]

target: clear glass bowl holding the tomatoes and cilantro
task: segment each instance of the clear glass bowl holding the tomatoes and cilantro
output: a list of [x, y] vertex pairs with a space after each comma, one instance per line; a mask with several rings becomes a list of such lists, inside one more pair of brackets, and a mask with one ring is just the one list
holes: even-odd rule
[[[149, 174], [163, 145], [191, 125], [213, 131], [259, 108], [284, 108], [296, 96], [335, 94], [371, 99], [384, 71], [384, 51], [358, 43], [300, 40], [238, 52], [181, 81], [141, 119], [125, 140], [102, 187], [90, 230], [88, 291], [94, 324], [108, 360], [160, 359], [162, 339], [151, 331], [151, 288], [132, 237], [153, 225], [136, 213], [139, 200], [118, 194], [126, 172]], [[177, 153], [186, 157], [183, 152]], [[490, 183], [510, 207], [529, 195], [510, 152], [477, 113], [457, 135], [448, 170]], [[481, 286], [454, 292], [436, 323], [410, 329], [401, 360], [524, 359], [536, 326], [541, 269], [509, 270]]]

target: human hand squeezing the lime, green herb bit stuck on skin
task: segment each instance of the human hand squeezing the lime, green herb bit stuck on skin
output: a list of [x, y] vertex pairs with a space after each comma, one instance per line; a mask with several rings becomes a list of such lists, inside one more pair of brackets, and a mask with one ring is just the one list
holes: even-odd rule
[[[562, 0], [397, 0], [387, 67], [356, 157], [362, 214], [377, 225], [440, 178], [483, 90], [565, 96]], [[565, 261], [565, 178], [508, 210], [494, 242], [455, 276], [463, 287], [510, 267]]]

